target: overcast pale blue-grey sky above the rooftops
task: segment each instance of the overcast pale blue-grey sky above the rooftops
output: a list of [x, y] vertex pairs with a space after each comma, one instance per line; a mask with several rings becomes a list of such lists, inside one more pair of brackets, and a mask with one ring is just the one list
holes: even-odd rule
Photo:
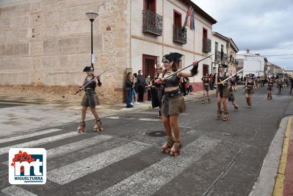
[[[192, 1], [217, 21], [213, 31], [233, 39], [238, 54], [246, 48], [260, 55], [293, 54], [293, 0]], [[293, 55], [267, 59], [293, 70]]]

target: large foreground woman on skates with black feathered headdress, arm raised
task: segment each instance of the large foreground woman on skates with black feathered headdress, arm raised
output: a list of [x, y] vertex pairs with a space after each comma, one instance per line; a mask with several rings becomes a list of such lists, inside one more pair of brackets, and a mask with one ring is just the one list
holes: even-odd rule
[[[155, 86], [163, 85], [165, 89], [164, 96], [162, 98], [162, 117], [165, 130], [167, 132], [167, 142], [162, 146], [163, 152], [170, 152], [171, 155], [176, 156], [180, 154], [182, 144], [180, 142], [180, 130], [178, 126], [178, 116], [185, 109], [185, 102], [183, 95], [179, 89], [179, 83], [181, 77], [193, 77], [197, 73], [198, 62], [193, 62], [193, 68], [188, 71], [180, 71], [172, 77], [162, 80], [162, 78], [172, 74], [178, 70], [178, 62], [181, 59], [182, 54], [170, 53], [163, 57], [163, 65], [165, 70], [159, 75], [159, 78], [155, 80]], [[172, 130], [174, 137], [172, 137]]]

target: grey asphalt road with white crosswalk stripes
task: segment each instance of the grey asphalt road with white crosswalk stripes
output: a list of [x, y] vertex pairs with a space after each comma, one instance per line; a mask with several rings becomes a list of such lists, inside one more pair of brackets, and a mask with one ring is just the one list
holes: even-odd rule
[[[216, 120], [214, 96], [210, 104], [188, 102], [179, 117], [183, 154], [177, 157], [160, 152], [166, 134], [157, 109], [102, 119], [105, 131], [98, 133], [86, 121], [82, 134], [72, 122], [45, 134], [0, 138], [0, 195], [247, 196], [280, 120], [293, 113], [289, 88], [275, 89], [272, 100], [266, 88], [254, 92], [251, 109], [243, 89], [235, 92], [239, 111], [228, 103], [228, 122]], [[46, 184], [9, 184], [5, 149], [12, 147], [47, 150]]]

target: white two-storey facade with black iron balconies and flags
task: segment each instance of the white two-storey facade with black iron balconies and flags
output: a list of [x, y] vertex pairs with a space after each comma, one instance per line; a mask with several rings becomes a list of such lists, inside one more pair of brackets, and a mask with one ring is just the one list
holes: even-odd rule
[[[188, 5], [194, 8], [195, 30], [183, 29]], [[155, 73], [154, 64], [170, 52], [183, 54], [180, 68], [211, 53], [212, 24], [216, 21], [190, 0], [131, 1], [130, 67], [144, 76]], [[141, 10], [141, 11], [140, 11]], [[197, 76], [189, 78], [194, 90], [202, 90], [201, 78], [210, 73], [211, 58], [200, 63]]]

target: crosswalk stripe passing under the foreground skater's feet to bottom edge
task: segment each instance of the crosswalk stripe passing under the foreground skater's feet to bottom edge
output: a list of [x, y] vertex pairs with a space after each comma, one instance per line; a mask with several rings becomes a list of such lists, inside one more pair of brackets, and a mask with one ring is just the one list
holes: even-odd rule
[[167, 156], [109, 187], [97, 196], [150, 196], [195, 163], [219, 142], [219, 140], [200, 137], [188, 144], [184, 148], [183, 154], [177, 157]]

